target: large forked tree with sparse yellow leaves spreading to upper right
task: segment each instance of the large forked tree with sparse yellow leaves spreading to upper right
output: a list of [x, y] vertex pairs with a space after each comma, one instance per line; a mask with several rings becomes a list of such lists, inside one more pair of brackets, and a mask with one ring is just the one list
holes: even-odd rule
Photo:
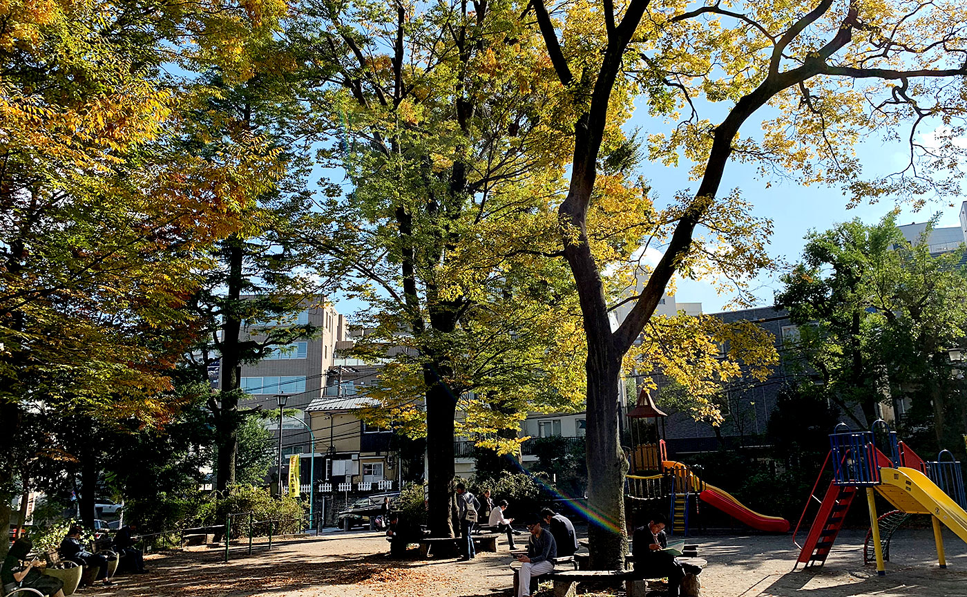
[[[721, 194], [726, 164], [737, 157], [766, 172], [785, 169], [806, 184], [841, 184], [854, 201], [955, 191], [952, 181], [959, 174], [952, 156], [963, 102], [954, 81], [967, 74], [959, 24], [964, 7], [852, 0], [728, 7], [652, 0], [548, 7], [534, 0], [530, 6], [547, 59], [577, 112], [571, 120], [570, 188], [559, 214], [587, 337], [589, 504], [612, 522], [590, 529], [592, 566], [611, 568], [626, 542], [627, 463], [616, 404], [622, 359], [676, 274], [694, 277], [704, 261], [724, 277], [742, 280], [762, 262], [758, 241], [743, 241], [749, 238], [746, 210], [735, 211], [741, 204]], [[667, 241], [664, 253], [628, 317], [612, 330], [601, 263], [588, 240], [588, 214], [608, 128], [616, 108], [635, 92], [644, 95], [653, 115], [674, 123], [666, 133], [649, 134], [649, 157], [665, 164], [689, 160], [698, 187], [679, 195], [680, 208], [659, 227]], [[717, 117], [724, 114], [718, 124], [700, 117], [706, 106]], [[740, 137], [760, 111], [761, 138]], [[932, 118], [946, 128], [934, 130], [936, 138], [924, 147], [918, 133]], [[950, 126], [948, 119], [958, 124]], [[891, 135], [904, 123], [910, 132], [898, 136], [909, 140], [910, 164], [896, 175], [862, 180], [854, 142], [874, 132], [895, 139]], [[696, 236], [702, 226], [708, 235]]]

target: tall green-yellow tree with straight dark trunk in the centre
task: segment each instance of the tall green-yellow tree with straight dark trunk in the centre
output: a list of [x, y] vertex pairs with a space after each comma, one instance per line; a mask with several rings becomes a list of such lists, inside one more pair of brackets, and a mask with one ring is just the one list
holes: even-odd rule
[[306, 5], [306, 45], [337, 65], [317, 100], [337, 138], [325, 155], [353, 185], [324, 205], [336, 229], [319, 248], [370, 301], [373, 339], [410, 349], [374, 396], [405, 410], [397, 422], [425, 421], [429, 526], [452, 535], [457, 403], [477, 392], [467, 411], [493, 430], [517, 416], [490, 416], [488, 399], [556, 389], [573, 402], [580, 383], [563, 373], [573, 359], [547, 344], [573, 347], [569, 284], [560, 264], [536, 258], [555, 251], [550, 202], [570, 151], [549, 65], [518, 35], [512, 3]]

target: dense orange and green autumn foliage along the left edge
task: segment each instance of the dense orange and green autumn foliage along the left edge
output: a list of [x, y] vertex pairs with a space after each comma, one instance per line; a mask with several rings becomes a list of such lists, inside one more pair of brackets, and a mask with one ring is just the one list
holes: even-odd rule
[[[257, 19], [221, 3], [4, 8], [0, 451], [27, 432], [28, 403], [109, 403], [111, 388], [119, 407], [106, 412], [140, 408], [151, 418], [147, 395], [167, 386], [161, 370], [174, 361], [153, 352], [139, 326], [185, 323], [179, 308], [201, 265], [193, 249], [237, 229], [237, 206], [272, 181], [256, 137], [217, 160], [177, 151], [174, 137], [187, 122], [180, 109], [195, 96], [160, 67], [205, 60], [244, 71], [242, 50], [271, 36], [276, 17], [274, 2]], [[202, 30], [198, 44], [188, 43]], [[10, 463], [0, 463], [0, 492], [12, 482]], [[0, 509], [0, 524], [8, 515]]]

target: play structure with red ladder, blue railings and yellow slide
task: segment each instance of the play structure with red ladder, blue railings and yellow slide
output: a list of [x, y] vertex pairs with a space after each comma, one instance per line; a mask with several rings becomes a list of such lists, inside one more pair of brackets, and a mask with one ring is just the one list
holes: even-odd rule
[[[893, 534], [898, 523], [905, 520], [904, 516], [897, 515], [930, 515], [937, 559], [941, 568], [947, 567], [941, 524], [946, 525], [960, 539], [967, 542], [967, 512], [964, 511], [967, 499], [964, 496], [960, 463], [953, 461], [952, 456], [950, 460], [945, 461], [944, 454], [950, 455], [946, 450], [940, 453], [936, 462], [924, 462], [902, 441], [898, 441], [896, 433], [891, 432], [882, 420], [874, 422], [871, 429], [876, 430], [878, 426], [885, 431], [885, 441], [890, 456], [876, 447], [872, 431], [853, 432], [840, 423], [834, 433], [830, 434], [830, 453], [823, 463], [823, 469], [827, 463], [832, 463], [833, 480], [820, 501], [819, 510], [809, 528], [806, 542], [802, 546], [796, 543], [800, 547], [796, 566], [801, 563], [806, 566], [822, 565], [826, 561], [842, 527], [846, 512], [854, 497], [861, 492], [866, 494], [866, 506], [869, 509], [869, 538], [872, 540], [876, 571], [881, 576], [886, 574], [884, 561], [889, 553], [890, 535]], [[796, 532], [806, 517], [809, 503], [813, 499], [819, 501], [816, 489], [822, 478], [823, 469], [820, 469], [816, 485], [813, 486], [812, 494], [803, 511], [803, 517], [800, 518], [800, 523], [793, 533], [794, 543]], [[877, 517], [876, 493], [885, 497], [896, 510], [884, 517]], [[887, 535], [883, 536], [881, 521], [899, 522], [891, 522], [886, 529]]]

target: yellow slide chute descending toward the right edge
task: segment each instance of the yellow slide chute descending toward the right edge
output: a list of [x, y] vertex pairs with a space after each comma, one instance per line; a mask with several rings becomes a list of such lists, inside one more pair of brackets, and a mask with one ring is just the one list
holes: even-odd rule
[[932, 514], [967, 543], [967, 512], [950, 495], [915, 468], [880, 468], [883, 485], [876, 486], [897, 510], [909, 514]]

